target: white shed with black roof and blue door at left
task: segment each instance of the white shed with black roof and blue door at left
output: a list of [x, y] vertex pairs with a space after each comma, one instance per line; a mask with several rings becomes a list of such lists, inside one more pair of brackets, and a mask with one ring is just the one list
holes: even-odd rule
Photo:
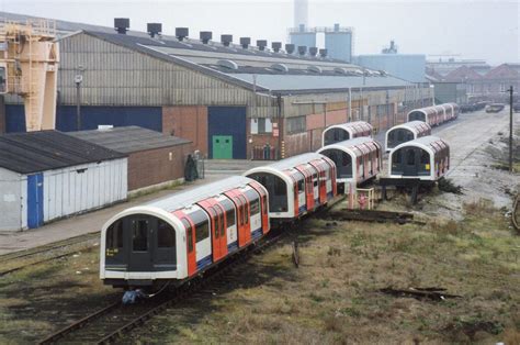
[[126, 199], [127, 158], [57, 131], [0, 135], [0, 231]]

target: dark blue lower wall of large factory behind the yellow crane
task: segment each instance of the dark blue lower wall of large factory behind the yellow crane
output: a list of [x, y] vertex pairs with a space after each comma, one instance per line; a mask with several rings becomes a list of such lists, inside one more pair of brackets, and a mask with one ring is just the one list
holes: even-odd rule
[[[25, 131], [23, 105], [5, 105], [5, 132]], [[100, 124], [114, 126], [138, 125], [157, 132], [162, 131], [160, 107], [81, 107], [81, 130], [95, 130]], [[60, 105], [56, 110], [56, 129], [77, 131], [76, 107]]]

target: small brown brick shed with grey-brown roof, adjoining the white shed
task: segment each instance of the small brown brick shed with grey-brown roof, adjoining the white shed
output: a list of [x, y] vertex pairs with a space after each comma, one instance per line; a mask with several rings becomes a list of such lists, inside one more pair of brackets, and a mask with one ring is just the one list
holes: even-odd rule
[[128, 156], [128, 191], [184, 180], [190, 141], [156, 131], [122, 126], [69, 132], [71, 136]]

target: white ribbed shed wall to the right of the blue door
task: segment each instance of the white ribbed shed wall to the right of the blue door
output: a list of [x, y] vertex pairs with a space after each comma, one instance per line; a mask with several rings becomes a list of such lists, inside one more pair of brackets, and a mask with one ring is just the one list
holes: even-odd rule
[[44, 222], [126, 199], [127, 158], [44, 172]]

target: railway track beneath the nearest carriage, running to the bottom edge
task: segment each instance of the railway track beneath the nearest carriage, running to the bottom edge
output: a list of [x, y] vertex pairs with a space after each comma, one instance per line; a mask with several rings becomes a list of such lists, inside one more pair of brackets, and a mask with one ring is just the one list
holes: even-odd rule
[[221, 265], [204, 272], [204, 276], [195, 276], [185, 281], [182, 286], [176, 287], [172, 290], [166, 289], [154, 298], [144, 300], [143, 303], [124, 305], [122, 302], [117, 301], [109, 304], [108, 307], [74, 322], [56, 333], [50, 334], [38, 344], [53, 344], [56, 342], [95, 344], [111, 343], [165, 309], [176, 305], [180, 300], [190, 298], [202, 288], [214, 282], [218, 278], [222, 278], [231, 269], [246, 263], [251, 255], [267, 249], [278, 243], [282, 237], [287, 236], [290, 233], [290, 229], [274, 230], [272, 235], [265, 240], [248, 247], [244, 252], [237, 253], [233, 257], [229, 257]]

